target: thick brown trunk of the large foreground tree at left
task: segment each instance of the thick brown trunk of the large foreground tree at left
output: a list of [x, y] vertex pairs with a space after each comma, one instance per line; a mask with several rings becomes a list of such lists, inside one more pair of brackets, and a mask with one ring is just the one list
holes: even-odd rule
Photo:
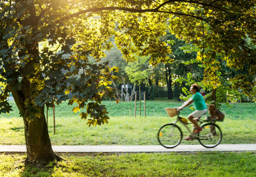
[[[29, 92], [23, 93], [23, 91], [29, 90], [29, 87], [30, 86], [27, 85], [27, 87], [22, 90], [12, 89], [14, 101], [20, 112], [25, 112], [24, 100], [26, 100], [25, 95], [27, 95], [27, 93]], [[38, 108], [41, 109], [42, 116], [40, 118], [37, 117], [35, 118], [35, 120], [30, 120], [29, 117], [23, 116], [27, 149], [27, 158], [25, 160], [25, 165], [33, 164], [36, 166], [44, 166], [54, 160], [61, 160], [61, 158], [56, 155], [52, 150], [52, 145], [50, 142], [50, 137], [44, 115], [44, 107]]]

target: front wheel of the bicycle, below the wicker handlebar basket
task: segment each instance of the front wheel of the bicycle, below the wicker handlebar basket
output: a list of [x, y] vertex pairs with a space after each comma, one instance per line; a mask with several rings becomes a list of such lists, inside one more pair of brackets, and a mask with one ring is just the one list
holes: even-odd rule
[[158, 142], [165, 148], [174, 148], [178, 146], [182, 136], [181, 129], [176, 124], [163, 125], [157, 134]]

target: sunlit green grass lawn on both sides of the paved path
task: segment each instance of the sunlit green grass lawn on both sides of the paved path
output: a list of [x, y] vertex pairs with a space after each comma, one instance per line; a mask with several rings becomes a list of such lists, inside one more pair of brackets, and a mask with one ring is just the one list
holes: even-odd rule
[[[25, 144], [24, 125], [14, 102], [14, 111], [0, 115], [0, 144]], [[180, 106], [180, 102], [147, 101], [146, 118], [134, 117], [134, 102], [105, 101], [109, 123], [88, 127], [87, 121], [72, 113], [67, 103], [56, 107], [56, 134], [53, 135], [53, 115], [49, 110], [49, 135], [53, 145], [150, 145], [157, 142], [157, 131], [174, 118], [163, 108]], [[143, 102], [142, 102], [143, 105]], [[233, 108], [222, 106], [226, 118], [218, 123], [223, 132], [222, 144], [255, 143], [256, 104], [232, 103]], [[143, 106], [142, 106], [143, 107]], [[192, 110], [185, 108], [181, 116]], [[139, 112], [137, 111], [137, 115]], [[181, 127], [182, 125], [179, 124]], [[185, 129], [182, 128], [183, 132]], [[188, 133], [184, 133], [187, 136]], [[181, 144], [199, 144], [197, 141]], [[227, 176], [255, 177], [256, 152], [195, 152], [153, 153], [126, 155], [61, 155], [65, 161], [50, 163], [45, 168], [25, 166], [26, 154], [0, 154], [0, 176], [4, 177], [158, 177], [158, 176]]]

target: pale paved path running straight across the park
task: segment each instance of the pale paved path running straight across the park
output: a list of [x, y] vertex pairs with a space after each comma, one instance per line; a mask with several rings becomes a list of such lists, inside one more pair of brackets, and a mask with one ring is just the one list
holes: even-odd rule
[[[196, 152], [196, 151], [256, 151], [256, 144], [219, 144], [215, 148], [205, 148], [202, 145], [178, 145], [167, 149], [160, 145], [154, 146], [52, 146], [56, 153], [88, 153], [103, 152], [110, 154], [139, 153], [139, 152]], [[0, 145], [0, 153], [24, 153], [25, 145]]]

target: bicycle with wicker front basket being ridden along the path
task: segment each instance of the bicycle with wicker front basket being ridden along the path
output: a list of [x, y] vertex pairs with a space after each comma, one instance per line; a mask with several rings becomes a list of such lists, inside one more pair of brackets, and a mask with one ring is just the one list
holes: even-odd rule
[[[165, 108], [167, 114], [170, 117], [178, 116], [180, 111], [177, 108]], [[206, 148], [216, 147], [222, 140], [222, 132], [215, 122], [222, 122], [223, 120], [214, 119], [211, 116], [206, 116], [204, 120], [198, 121], [199, 126], [203, 129], [199, 133], [193, 133], [188, 128], [187, 119], [183, 117], [177, 117], [177, 120], [172, 123], [163, 125], [157, 134], [158, 142], [165, 148], [174, 148], [178, 146], [183, 138], [182, 131], [177, 122], [180, 122], [188, 130], [191, 139], [197, 139], [202, 146]]]

